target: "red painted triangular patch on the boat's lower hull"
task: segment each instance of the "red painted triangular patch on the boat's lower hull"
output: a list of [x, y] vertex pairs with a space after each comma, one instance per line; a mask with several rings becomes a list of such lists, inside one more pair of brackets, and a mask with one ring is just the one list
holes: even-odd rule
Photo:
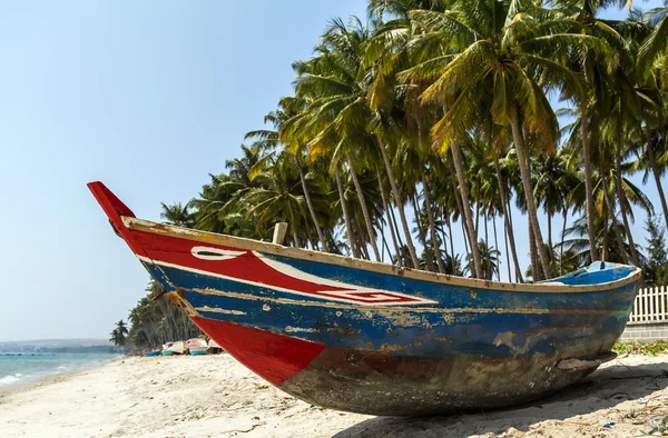
[[302, 371], [325, 348], [289, 336], [236, 323], [193, 317], [197, 325], [235, 359], [272, 385]]

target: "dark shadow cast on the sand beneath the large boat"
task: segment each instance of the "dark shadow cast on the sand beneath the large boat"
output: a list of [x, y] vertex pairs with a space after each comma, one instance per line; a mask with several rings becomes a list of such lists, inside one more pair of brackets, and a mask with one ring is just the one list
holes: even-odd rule
[[[668, 357], [666, 357], [668, 361]], [[599, 409], [639, 400], [668, 387], [668, 362], [626, 366], [618, 360], [552, 396], [512, 408], [443, 417], [375, 417], [358, 422], [335, 438], [347, 437], [466, 437], [502, 434], [511, 427], [528, 431], [544, 420], [564, 420]], [[644, 405], [631, 401], [636, 409]], [[631, 408], [632, 409], [632, 408]]]

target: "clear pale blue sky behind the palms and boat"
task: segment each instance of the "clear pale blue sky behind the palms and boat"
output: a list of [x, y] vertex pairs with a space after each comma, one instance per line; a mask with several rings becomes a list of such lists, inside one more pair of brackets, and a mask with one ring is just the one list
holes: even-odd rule
[[291, 92], [292, 61], [350, 13], [365, 1], [3, 2], [0, 340], [107, 337], [148, 275], [86, 182], [158, 220], [238, 155]]

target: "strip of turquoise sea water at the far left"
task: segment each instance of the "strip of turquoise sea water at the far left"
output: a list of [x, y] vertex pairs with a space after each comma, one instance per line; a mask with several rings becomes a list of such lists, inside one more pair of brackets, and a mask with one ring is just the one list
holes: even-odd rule
[[0, 352], [0, 388], [117, 359], [108, 352]]

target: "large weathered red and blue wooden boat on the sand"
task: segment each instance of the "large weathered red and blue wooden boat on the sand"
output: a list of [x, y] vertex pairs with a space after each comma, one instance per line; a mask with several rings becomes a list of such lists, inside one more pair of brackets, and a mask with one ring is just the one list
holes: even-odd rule
[[137, 219], [90, 190], [168, 297], [227, 352], [308, 402], [426, 415], [529, 401], [603, 361], [640, 270], [483, 281]]

